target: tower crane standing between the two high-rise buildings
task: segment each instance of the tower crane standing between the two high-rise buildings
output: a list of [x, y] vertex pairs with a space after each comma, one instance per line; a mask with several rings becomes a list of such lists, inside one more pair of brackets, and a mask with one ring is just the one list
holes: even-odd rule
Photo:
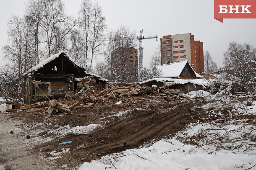
[[139, 61], [139, 77], [140, 75], [143, 73], [143, 46], [142, 46], [142, 40], [143, 39], [156, 39], [158, 38], [158, 36], [148, 36], [148, 37], [144, 37], [142, 36], [143, 33], [143, 29], [140, 31], [141, 35], [137, 36], [138, 42], [139, 42], [139, 47], [138, 47], [138, 61]]

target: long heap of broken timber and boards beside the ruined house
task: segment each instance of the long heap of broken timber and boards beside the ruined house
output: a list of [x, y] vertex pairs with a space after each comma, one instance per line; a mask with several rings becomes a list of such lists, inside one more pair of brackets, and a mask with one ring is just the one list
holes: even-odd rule
[[165, 89], [163, 87], [148, 87], [133, 83], [118, 83], [114, 88], [106, 90], [101, 86], [84, 84], [78, 87], [75, 93], [55, 93], [52, 100], [37, 102], [31, 105], [22, 106], [20, 110], [35, 107], [48, 107], [47, 112], [51, 116], [59, 111], [72, 113], [75, 109], [89, 108], [94, 105], [122, 103], [149, 103], [152, 100], [171, 101], [179, 100], [180, 90]]

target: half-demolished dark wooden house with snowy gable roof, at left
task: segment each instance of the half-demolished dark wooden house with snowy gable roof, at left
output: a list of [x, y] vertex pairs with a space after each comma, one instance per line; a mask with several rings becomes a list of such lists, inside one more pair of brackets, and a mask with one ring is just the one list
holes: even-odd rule
[[[86, 85], [99, 85], [107, 89], [107, 79], [87, 73], [66, 55], [59, 52], [32, 67], [24, 75], [24, 103], [33, 103], [34, 99], [73, 91]], [[80, 84], [79, 84], [80, 83]], [[81, 85], [82, 84], [82, 85]], [[86, 85], [85, 85], [86, 84]]]

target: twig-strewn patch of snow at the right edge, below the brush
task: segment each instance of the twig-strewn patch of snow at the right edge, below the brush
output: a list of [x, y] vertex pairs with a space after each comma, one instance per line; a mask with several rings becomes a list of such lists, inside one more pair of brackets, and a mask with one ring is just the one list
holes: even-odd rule
[[190, 124], [177, 139], [194, 144], [214, 154], [228, 149], [233, 153], [256, 155], [256, 121], [235, 119], [225, 123]]

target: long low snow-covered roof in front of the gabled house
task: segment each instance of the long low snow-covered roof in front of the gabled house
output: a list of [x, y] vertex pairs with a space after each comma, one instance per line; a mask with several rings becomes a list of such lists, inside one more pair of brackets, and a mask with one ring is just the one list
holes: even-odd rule
[[149, 79], [143, 82], [140, 82], [139, 84], [144, 84], [146, 82], [151, 82], [151, 81], [157, 81], [157, 82], [164, 82], [166, 84], [186, 84], [186, 83], [192, 83], [195, 85], [203, 85], [204, 86], [204, 79], [175, 79], [175, 78], [153, 78]]

